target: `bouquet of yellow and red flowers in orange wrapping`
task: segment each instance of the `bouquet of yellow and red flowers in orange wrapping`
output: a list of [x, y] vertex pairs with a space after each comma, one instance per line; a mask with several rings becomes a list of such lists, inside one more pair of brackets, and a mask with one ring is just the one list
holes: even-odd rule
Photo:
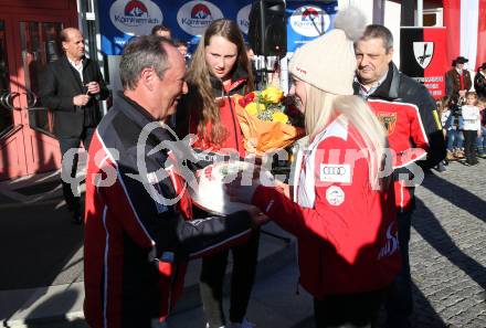
[[235, 100], [246, 151], [282, 149], [304, 135], [304, 116], [277, 87], [268, 86]]

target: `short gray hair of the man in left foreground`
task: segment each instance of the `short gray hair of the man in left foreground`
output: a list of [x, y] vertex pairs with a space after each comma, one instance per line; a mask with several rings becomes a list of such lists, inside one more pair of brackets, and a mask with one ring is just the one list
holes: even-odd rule
[[124, 89], [135, 89], [141, 71], [147, 67], [154, 67], [157, 75], [163, 77], [163, 73], [170, 67], [165, 43], [172, 45], [168, 39], [156, 35], [141, 35], [128, 41], [119, 63]]

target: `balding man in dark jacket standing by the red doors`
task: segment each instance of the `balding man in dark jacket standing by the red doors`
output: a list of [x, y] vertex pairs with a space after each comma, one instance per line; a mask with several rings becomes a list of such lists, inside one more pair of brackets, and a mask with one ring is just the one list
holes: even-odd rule
[[[60, 60], [50, 63], [39, 85], [42, 104], [54, 112], [54, 134], [59, 139], [63, 157], [63, 194], [68, 210], [73, 213], [73, 223], [81, 224], [82, 212], [77, 186], [68, 183], [75, 178], [77, 149], [83, 141], [89, 147], [93, 133], [102, 114], [98, 102], [109, 96], [98, 64], [84, 55], [84, 39], [74, 28], [61, 31], [62, 47], [65, 53]], [[72, 150], [71, 150], [72, 151]]]

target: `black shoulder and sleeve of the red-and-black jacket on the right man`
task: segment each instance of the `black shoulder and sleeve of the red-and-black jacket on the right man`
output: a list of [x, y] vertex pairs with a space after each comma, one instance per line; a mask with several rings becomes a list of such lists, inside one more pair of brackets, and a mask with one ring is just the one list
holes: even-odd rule
[[[355, 94], [359, 95], [359, 84], [357, 82], [353, 87]], [[419, 108], [430, 147], [426, 159], [418, 163], [424, 169], [430, 169], [445, 158], [445, 140], [435, 110], [435, 100], [425, 86], [402, 74], [393, 63], [390, 63], [387, 78], [369, 98], [415, 105]], [[413, 146], [411, 145], [411, 147]]]

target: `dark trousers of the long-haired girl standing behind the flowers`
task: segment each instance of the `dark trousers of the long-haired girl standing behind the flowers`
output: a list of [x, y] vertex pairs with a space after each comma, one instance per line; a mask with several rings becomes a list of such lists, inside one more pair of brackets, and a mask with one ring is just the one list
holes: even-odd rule
[[[254, 231], [249, 242], [231, 247], [233, 273], [231, 276], [230, 320], [241, 322], [246, 314], [255, 281], [260, 232]], [[202, 306], [210, 328], [226, 325], [223, 311], [223, 281], [229, 250], [202, 258], [199, 288]]]

